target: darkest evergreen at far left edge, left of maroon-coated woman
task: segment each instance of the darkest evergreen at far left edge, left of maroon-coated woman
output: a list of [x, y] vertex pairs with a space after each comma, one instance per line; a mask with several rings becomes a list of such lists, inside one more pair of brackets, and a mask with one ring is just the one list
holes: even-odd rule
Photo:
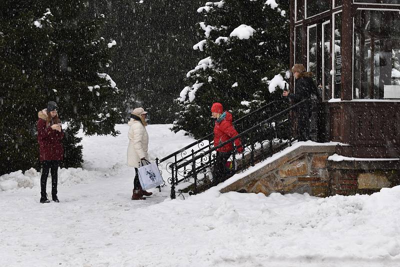
[[40, 27], [33, 23], [30, 4], [8, 1], [0, 6], [0, 175], [35, 166], [38, 158], [34, 134], [42, 93], [37, 84], [52, 50], [53, 29], [48, 13], [42, 14]]

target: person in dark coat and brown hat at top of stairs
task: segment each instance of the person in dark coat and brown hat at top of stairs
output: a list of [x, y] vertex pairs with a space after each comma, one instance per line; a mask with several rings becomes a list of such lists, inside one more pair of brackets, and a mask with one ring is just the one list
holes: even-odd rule
[[[283, 91], [290, 103], [295, 104], [304, 99], [310, 99], [315, 84], [312, 80], [312, 72], [306, 72], [302, 64], [294, 64], [291, 68], [295, 77], [294, 93]], [[306, 141], [309, 139], [309, 119], [311, 116], [311, 101], [300, 104], [297, 108], [297, 139]]]

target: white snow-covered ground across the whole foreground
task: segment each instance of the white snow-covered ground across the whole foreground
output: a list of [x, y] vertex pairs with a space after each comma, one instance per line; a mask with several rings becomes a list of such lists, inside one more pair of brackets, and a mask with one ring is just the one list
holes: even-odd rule
[[[168, 127], [147, 126], [151, 160], [193, 141]], [[59, 170], [60, 203], [39, 203], [33, 169], [0, 176], [0, 266], [400, 266], [400, 186], [185, 200], [163, 187], [132, 201], [128, 126], [117, 128], [83, 138], [83, 169]]]

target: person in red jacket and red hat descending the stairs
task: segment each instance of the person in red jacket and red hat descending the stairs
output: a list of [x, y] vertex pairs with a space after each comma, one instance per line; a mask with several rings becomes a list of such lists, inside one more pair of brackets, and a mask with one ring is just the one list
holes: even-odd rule
[[[223, 111], [221, 103], [213, 103], [211, 106], [211, 117], [215, 119], [214, 125], [214, 146], [217, 146], [228, 139], [237, 135], [237, 131], [232, 125], [232, 114], [228, 111]], [[240, 138], [234, 140], [237, 147], [236, 152], [241, 153], [243, 147], [240, 143]], [[233, 145], [231, 142], [216, 149], [215, 163], [212, 170], [212, 183], [214, 185], [227, 179], [226, 161], [231, 155]]]

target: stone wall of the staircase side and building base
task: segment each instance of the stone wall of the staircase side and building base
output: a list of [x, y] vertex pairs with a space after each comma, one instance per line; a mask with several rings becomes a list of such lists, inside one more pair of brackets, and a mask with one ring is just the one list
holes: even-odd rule
[[301, 146], [223, 189], [268, 195], [309, 193], [325, 197], [372, 193], [400, 184], [399, 160], [331, 161], [334, 146]]

